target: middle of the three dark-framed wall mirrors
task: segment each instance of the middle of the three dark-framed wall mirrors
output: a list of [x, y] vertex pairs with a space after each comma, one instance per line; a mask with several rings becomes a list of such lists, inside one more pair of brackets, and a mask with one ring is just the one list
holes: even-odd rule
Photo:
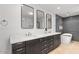
[[38, 29], [44, 29], [45, 28], [45, 14], [43, 11], [37, 10], [36, 11], [36, 26]]

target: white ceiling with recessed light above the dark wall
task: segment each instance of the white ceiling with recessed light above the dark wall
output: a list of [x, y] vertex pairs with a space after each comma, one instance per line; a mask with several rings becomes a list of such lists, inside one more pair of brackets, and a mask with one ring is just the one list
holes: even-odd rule
[[34, 4], [33, 6], [40, 7], [62, 17], [79, 15], [79, 4]]

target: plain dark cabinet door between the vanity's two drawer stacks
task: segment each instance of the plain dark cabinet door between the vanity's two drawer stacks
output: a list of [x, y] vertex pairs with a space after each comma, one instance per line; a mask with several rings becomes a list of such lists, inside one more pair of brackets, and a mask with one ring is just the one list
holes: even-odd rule
[[26, 54], [39, 54], [39, 53], [40, 53], [39, 39], [26, 42]]

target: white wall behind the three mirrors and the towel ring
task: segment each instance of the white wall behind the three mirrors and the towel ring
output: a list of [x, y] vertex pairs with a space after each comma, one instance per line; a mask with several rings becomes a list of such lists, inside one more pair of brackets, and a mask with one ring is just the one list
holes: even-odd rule
[[[0, 16], [3, 19], [6, 19], [8, 21], [8, 25], [6, 27], [1, 26], [0, 24], [0, 53], [11, 53], [10, 42], [9, 42], [10, 35], [15, 34], [15, 33], [25, 34], [28, 31], [31, 31], [33, 33], [36, 31], [40, 31], [40, 32], [44, 31], [44, 30], [37, 30], [36, 26], [34, 26], [34, 29], [28, 29], [28, 30], [21, 29], [21, 7], [20, 6], [21, 5], [13, 5], [13, 4], [0, 5]], [[54, 14], [52, 14], [52, 18], [53, 18], [52, 31], [55, 32], [55, 15]], [[34, 19], [36, 20], [36, 18]]]

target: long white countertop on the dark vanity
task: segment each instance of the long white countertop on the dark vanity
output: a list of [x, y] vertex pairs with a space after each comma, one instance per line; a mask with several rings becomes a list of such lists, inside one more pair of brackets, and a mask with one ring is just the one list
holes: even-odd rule
[[13, 36], [10, 36], [10, 44], [14, 44], [14, 43], [22, 42], [22, 41], [34, 40], [34, 39], [57, 35], [57, 34], [61, 34], [61, 33], [56, 32], [56, 33], [46, 33], [46, 34], [34, 34], [31, 36], [26, 36], [25, 34], [13, 35]]

